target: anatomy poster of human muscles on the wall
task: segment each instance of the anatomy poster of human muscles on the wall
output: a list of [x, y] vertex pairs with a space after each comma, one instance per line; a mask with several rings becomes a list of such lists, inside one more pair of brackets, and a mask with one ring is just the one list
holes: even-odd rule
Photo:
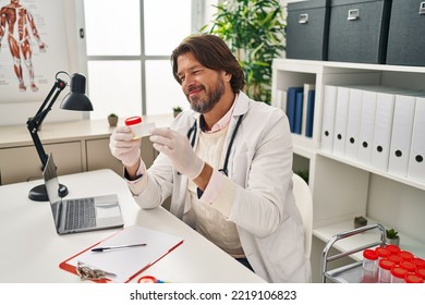
[[0, 0], [0, 102], [46, 98], [69, 69], [65, 33], [62, 1]]

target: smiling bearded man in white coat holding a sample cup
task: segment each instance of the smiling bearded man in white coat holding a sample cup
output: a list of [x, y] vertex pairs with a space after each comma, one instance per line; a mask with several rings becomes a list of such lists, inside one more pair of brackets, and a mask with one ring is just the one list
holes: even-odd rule
[[110, 139], [137, 204], [172, 195], [171, 212], [266, 281], [308, 281], [287, 117], [242, 91], [243, 71], [217, 36], [186, 38], [171, 62], [192, 110], [151, 131], [154, 164], [146, 170], [127, 127]]

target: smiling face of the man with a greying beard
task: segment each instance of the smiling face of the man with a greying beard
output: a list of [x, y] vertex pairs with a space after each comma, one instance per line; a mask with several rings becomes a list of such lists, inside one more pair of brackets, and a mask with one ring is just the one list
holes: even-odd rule
[[203, 66], [191, 53], [178, 58], [178, 75], [191, 108], [199, 113], [212, 110], [224, 94], [224, 72]]

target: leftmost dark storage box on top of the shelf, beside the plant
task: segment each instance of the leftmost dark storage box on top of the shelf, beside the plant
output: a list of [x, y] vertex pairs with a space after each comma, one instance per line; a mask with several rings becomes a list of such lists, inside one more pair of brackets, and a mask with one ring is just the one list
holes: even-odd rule
[[329, 1], [309, 0], [288, 3], [287, 58], [326, 60]]

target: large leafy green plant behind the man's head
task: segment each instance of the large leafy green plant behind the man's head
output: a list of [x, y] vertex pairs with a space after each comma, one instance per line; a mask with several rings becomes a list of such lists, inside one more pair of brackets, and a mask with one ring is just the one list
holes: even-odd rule
[[216, 34], [228, 44], [244, 71], [244, 91], [255, 100], [270, 103], [271, 63], [286, 49], [280, 1], [226, 0], [214, 7], [215, 20], [201, 32]]

